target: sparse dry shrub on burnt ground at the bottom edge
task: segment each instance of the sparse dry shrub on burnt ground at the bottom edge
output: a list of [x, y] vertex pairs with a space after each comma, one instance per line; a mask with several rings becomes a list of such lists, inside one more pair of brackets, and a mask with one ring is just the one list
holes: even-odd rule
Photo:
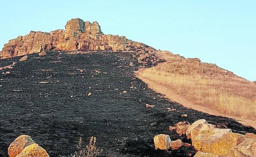
[[102, 149], [100, 150], [96, 147], [96, 137], [91, 137], [89, 145], [86, 145], [85, 147], [82, 146], [82, 138], [80, 137], [77, 148], [78, 152], [71, 154], [71, 157], [97, 157], [102, 152]]

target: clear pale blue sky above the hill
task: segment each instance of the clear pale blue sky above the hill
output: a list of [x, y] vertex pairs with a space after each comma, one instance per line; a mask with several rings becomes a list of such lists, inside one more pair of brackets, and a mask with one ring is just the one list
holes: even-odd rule
[[155, 49], [198, 57], [256, 80], [255, 0], [5, 0], [0, 49], [33, 31], [66, 21], [98, 21], [105, 34], [125, 35]]

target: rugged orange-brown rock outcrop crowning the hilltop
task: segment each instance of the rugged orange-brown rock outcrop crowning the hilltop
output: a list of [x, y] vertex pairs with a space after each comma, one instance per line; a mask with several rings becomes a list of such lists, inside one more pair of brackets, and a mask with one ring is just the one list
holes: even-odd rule
[[104, 35], [98, 22], [76, 18], [66, 23], [66, 30], [55, 30], [50, 33], [30, 31], [25, 36], [9, 40], [0, 51], [0, 58], [22, 56], [32, 53], [45, 55], [47, 51], [130, 51], [133, 57], [144, 66], [156, 65], [161, 60], [157, 52], [145, 44], [127, 40], [125, 36]]

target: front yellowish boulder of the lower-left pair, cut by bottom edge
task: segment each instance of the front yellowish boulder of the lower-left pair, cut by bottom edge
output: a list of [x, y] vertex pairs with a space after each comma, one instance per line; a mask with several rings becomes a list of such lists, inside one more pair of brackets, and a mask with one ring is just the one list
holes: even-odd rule
[[49, 157], [49, 155], [38, 144], [31, 144], [24, 148], [16, 157]]

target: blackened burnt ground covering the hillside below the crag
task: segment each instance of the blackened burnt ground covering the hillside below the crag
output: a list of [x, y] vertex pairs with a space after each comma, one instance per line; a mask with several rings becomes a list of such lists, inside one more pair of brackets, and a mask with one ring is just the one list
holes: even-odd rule
[[[153, 137], [164, 133], [172, 140], [190, 142], [185, 135], [169, 131], [169, 125], [198, 119], [236, 133], [256, 133], [233, 119], [190, 110], [155, 93], [135, 77], [139, 65], [130, 53], [50, 52], [29, 55], [25, 62], [19, 58], [0, 61], [0, 66], [17, 62], [0, 74], [0, 157], [7, 157], [9, 144], [21, 134], [30, 135], [51, 157], [74, 153], [79, 137], [87, 143], [91, 136], [97, 137], [102, 156], [188, 157], [195, 153], [192, 146], [155, 150]], [[6, 71], [10, 73], [2, 74]], [[42, 81], [48, 83], [39, 84]], [[145, 104], [157, 107], [145, 108]]]

